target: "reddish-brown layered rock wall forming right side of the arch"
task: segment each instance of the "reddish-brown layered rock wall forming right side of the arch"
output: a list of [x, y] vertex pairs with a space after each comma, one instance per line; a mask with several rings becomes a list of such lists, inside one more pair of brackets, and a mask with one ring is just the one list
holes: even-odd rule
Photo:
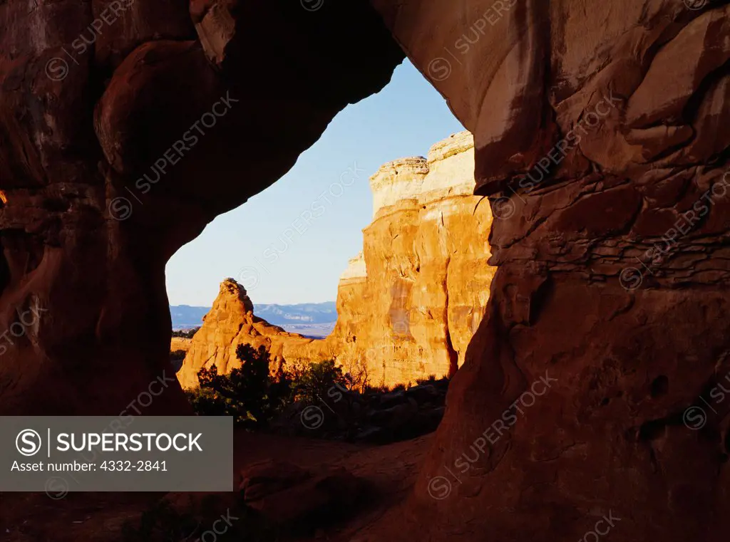
[[719, 540], [730, 9], [374, 4], [475, 134], [477, 193], [502, 219], [407, 529], [577, 540], [612, 511], [612, 541]]

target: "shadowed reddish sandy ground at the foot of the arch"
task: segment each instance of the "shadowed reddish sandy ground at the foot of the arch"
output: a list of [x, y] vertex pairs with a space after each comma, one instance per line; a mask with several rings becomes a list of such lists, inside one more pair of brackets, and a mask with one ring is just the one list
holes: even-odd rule
[[[267, 459], [304, 468], [344, 466], [366, 481], [372, 498], [358, 514], [332, 527], [331, 540], [361, 538], [384, 514], [405, 500], [431, 435], [388, 446], [358, 446], [338, 441], [289, 438], [237, 431], [234, 435], [234, 487], [247, 465]], [[234, 497], [221, 495], [224, 499]], [[53, 500], [45, 493], [0, 493], [0, 541], [117, 542], [122, 525], [135, 521], [161, 498], [181, 502], [191, 495], [164, 493], [71, 492]]]

